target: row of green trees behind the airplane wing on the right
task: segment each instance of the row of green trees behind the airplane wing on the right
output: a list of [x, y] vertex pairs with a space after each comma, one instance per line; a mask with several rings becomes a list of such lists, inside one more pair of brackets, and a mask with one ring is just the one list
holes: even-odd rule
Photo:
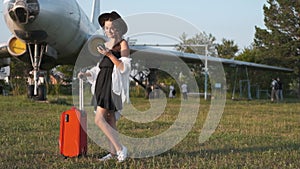
[[[177, 50], [208, 54], [220, 58], [236, 59], [294, 70], [291, 74], [252, 70], [250, 77], [254, 83], [263, 88], [270, 87], [272, 78], [280, 77], [285, 89], [294, 91], [300, 97], [300, 1], [298, 0], [267, 0], [263, 6], [266, 28], [255, 26], [253, 43], [238, 53], [238, 45], [234, 40], [222, 39], [221, 44], [215, 43], [216, 38], [200, 32], [191, 38], [183, 33], [182, 43]], [[207, 53], [200, 44], [206, 44]], [[227, 81], [232, 81], [233, 70], [225, 68]]]

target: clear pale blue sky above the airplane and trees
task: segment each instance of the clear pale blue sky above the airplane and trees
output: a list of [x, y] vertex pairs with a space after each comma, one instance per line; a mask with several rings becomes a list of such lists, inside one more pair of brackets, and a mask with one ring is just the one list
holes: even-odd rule
[[[3, 0], [0, 6], [1, 15], [2, 2]], [[90, 16], [92, 0], [78, 2]], [[101, 0], [100, 3], [101, 12], [115, 10], [124, 18], [143, 13], [161, 13], [177, 17], [200, 32], [212, 34], [217, 43], [221, 43], [223, 38], [233, 40], [242, 50], [253, 42], [255, 26], [264, 28], [263, 5], [266, 4], [266, 0]], [[149, 21], [151, 22], [155, 23], [153, 20]], [[11, 33], [6, 28], [3, 16], [0, 18], [0, 30], [0, 43], [6, 42]], [[155, 42], [158, 43], [160, 42]]]

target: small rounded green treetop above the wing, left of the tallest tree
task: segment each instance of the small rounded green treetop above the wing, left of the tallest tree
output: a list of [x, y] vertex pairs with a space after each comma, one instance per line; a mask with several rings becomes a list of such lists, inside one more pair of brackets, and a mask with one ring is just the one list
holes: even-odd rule
[[222, 44], [218, 44], [216, 47], [218, 56], [221, 58], [231, 59], [234, 58], [239, 48], [234, 44], [233, 40], [222, 39]]

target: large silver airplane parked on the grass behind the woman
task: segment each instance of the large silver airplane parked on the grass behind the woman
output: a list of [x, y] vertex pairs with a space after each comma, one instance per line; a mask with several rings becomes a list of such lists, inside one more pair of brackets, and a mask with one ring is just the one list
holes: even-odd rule
[[[4, 0], [4, 18], [13, 36], [7, 43], [0, 44], [0, 66], [7, 66], [14, 57], [32, 65], [34, 95], [38, 94], [38, 78], [42, 70], [49, 70], [57, 65], [74, 65], [86, 44], [104, 43], [103, 36], [95, 34], [99, 29], [100, 0], [93, 1], [91, 20], [80, 8], [76, 0]], [[292, 69], [276, 66], [242, 62], [230, 59], [203, 56], [147, 46], [130, 46], [131, 53], [140, 58], [152, 60], [157, 57], [179, 57], [184, 62], [201, 61], [222, 62], [239, 65], [291, 72]], [[94, 49], [92, 49], [94, 50]], [[92, 55], [93, 52], [91, 52]], [[97, 57], [93, 58], [94, 60]], [[92, 60], [93, 60], [92, 59]], [[207, 65], [206, 65], [207, 66]], [[45, 98], [45, 97], [44, 97]]]

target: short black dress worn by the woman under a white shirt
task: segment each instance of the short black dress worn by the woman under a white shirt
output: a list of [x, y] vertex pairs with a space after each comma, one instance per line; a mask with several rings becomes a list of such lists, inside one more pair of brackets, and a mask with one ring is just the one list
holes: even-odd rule
[[[121, 42], [116, 44], [112, 50], [110, 50], [118, 59], [121, 57], [120, 43]], [[121, 96], [112, 92], [112, 72], [114, 63], [107, 56], [104, 56], [99, 64], [99, 68], [100, 72], [98, 73], [95, 86], [97, 106], [111, 111], [121, 110]]]

